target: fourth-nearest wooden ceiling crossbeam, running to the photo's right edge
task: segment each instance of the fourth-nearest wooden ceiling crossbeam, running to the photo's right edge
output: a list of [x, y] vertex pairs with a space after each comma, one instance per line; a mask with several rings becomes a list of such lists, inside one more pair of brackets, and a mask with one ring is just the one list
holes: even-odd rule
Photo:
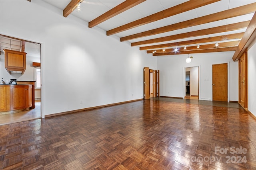
[[151, 29], [151, 30], [148, 30], [148, 31], [144, 31], [142, 33], [136, 33], [136, 34], [133, 34], [133, 35], [128, 35], [126, 37], [121, 37], [120, 41], [121, 42], [122, 41], [128, 41], [128, 40], [131, 40], [131, 39], [146, 37], [146, 36], [150, 36], [150, 35], [156, 35], [156, 34], [159, 34], [159, 33], [164, 33], [164, 32], [169, 32], [169, 31], [174, 31], [176, 29], [182, 29], [182, 28], [192, 27], [192, 26], [200, 25], [200, 24], [204, 24], [204, 23], [210, 23], [210, 22], [214, 22], [214, 21], [224, 20], [224, 19], [227, 19], [227, 18], [232, 18], [232, 17], [236, 17], [236, 16], [251, 14], [251, 13], [254, 13], [255, 11], [256, 11], [256, 2], [252, 3], [252, 4], [240, 6], [240, 7], [237, 7], [237, 8], [232, 8], [230, 10], [225, 10], [225, 11], [222, 11], [222, 12], [217, 12], [217, 13], [214, 13], [214, 14], [210, 14], [210, 15], [207, 15], [207, 16], [194, 18], [192, 20], [187, 20], [187, 21], [175, 23], [175, 24], [172, 24], [172, 25], [167, 25], [167, 26], [164, 26], [164, 27]]

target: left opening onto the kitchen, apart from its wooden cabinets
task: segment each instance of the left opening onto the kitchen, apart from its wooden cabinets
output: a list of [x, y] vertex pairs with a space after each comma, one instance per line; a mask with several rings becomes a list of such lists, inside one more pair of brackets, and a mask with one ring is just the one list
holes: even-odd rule
[[[23, 74], [9, 74], [6, 72], [4, 49], [26, 53], [26, 70]], [[5, 82], [8, 82], [10, 79], [15, 79], [17, 80], [16, 84], [32, 84], [32, 107], [26, 110], [2, 110], [0, 112], [0, 125], [41, 118], [41, 65], [37, 65], [37, 68], [33, 65], [34, 62], [41, 63], [41, 44], [16, 37], [0, 35], [0, 51], [0, 76], [4, 78]]]

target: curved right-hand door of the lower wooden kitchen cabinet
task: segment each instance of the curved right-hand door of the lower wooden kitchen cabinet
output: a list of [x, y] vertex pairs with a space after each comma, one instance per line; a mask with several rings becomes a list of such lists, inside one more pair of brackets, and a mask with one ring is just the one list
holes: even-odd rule
[[13, 86], [10, 90], [11, 95], [11, 109], [23, 109], [26, 108], [26, 93], [25, 86]]

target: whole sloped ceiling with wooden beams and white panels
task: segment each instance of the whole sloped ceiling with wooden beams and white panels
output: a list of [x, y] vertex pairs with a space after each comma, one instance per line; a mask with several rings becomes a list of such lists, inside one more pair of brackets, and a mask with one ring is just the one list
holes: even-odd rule
[[[63, 16], [67, 17], [81, 1], [71, 0], [65, 5]], [[256, 39], [255, 11], [255, 0], [84, 0], [81, 11], [73, 14], [88, 22], [88, 27], [98, 26], [106, 30], [106, 35], [116, 35], [132, 47], [147, 50], [146, 53], [156, 50], [154, 56], [174, 55], [175, 47], [181, 50], [175, 55], [233, 50], [235, 61]], [[216, 42], [218, 48], [214, 47]], [[186, 51], [182, 50], [184, 46]]]

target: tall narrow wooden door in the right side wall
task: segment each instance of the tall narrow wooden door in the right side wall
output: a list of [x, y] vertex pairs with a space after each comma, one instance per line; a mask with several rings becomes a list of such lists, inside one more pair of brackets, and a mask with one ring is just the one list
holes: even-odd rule
[[246, 53], [239, 59], [239, 101], [238, 103], [247, 108], [247, 56]]

